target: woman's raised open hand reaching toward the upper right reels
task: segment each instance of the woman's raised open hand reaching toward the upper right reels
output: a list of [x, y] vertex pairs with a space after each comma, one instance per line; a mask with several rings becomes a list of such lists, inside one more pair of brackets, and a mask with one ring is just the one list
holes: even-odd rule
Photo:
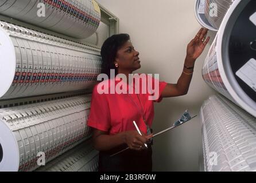
[[205, 46], [210, 40], [210, 37], [205, 39], [208, 29], [201, 28], [196, 34], [195, 38], [188, 43], [187, 47], [187, 58], [191, 60], [196, 60], [201, 53], [204, 51]]

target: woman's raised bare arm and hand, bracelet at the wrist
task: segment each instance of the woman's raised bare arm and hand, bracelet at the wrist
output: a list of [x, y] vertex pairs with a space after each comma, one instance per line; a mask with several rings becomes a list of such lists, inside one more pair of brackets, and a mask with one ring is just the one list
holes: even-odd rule
[[184, 96], [188, 93], [195, 61], [201, 55], [201, 53], [203, 53], [205, 46], [210, 40], [210, 37], [205, 40], [207, 32], [207, 29], [201, 28], [196, 34], [195, 38], [193, 38], [192, 41], [188, 43], [187, 56], [185, 58], [183, 72], [176, 84], [168, 83], [166, 85], [165, 89], [161, 93], [162, 97]]

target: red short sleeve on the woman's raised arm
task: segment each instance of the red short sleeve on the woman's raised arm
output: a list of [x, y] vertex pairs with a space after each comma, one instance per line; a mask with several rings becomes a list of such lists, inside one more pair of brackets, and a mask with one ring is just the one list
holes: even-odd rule
[[[162, 91], [164, 91], [165, 86], [167, 85], [167, 83], [164, 82], [164, 81], [159, 81], [159, 79], [154, 78], [149, 74], [147, 76], [148, 76], [148, 79], [152, 80], [152, 86], [149, 87], [149, 90], [152, 89], [152, 91], [150, 92], [150, 95], [154, 96], [153, 101], [154, 102], [161, 102], [162, 101], [161, 94], [162, 94]], [[157, 87], [157, 85], [158, 85], [158, 87]], [[158, 89], [158, 91], [157, 91], [157, 89]]]

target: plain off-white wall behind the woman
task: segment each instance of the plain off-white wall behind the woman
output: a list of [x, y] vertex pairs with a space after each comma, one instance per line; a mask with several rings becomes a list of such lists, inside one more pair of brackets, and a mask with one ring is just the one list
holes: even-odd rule
[[[188, 42], [200, 29], [194, 15], [194, 0], [98, 0], [120, 19], [119, 33], [130, 34], [140, 53], [139, 73], [160, 73], [160, 79], [176, 83], [183, 69]], [[211, 37], [211, 40], [214, 37]], [[168, 128], [185, 109], [199, 114], [204, 100], [214, 93], [201, 77], [201, 67], [210, 45], [196, 61], [187, 96], [165, 98], [155, 105], [153, 129]], [[197, 171], [201, 154], [200, 119], [184, 124], [154, 139], [153, 170]]]

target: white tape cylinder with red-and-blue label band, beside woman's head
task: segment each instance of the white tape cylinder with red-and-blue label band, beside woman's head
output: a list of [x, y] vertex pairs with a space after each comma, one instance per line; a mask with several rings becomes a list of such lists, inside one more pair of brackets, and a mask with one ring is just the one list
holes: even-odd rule
[[0, 98], [19, 98], [92, 87], [100, 73], [98, 52], [0, 22]]

